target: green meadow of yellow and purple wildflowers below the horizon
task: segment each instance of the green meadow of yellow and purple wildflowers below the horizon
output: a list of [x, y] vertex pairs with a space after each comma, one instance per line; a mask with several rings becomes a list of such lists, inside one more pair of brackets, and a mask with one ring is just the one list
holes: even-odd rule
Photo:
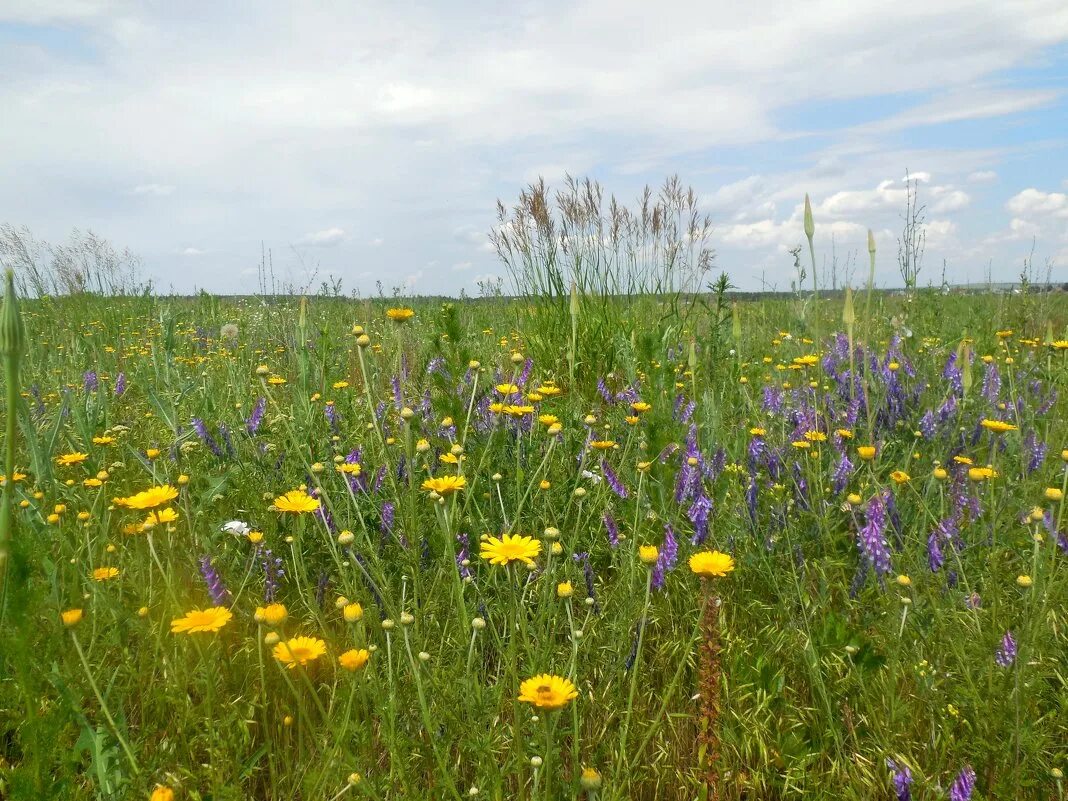
[[0, 797], [1065, 797], [1063, 296], [527, 307], [5, 317]]

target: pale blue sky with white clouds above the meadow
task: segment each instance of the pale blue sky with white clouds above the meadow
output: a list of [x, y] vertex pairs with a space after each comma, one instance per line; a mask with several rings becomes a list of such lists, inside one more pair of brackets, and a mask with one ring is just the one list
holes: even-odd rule
[[[900, 285], [1068, 281], [1068, 3], [0, 0], [0, 222], [92, 230], [161, 292], [476, 294], [498, 199], [677, 174], [714, 271], [788, 289], [817, 260]], [[314, 276], [314, 278], [312, 278]], [[507, 288], [507, 284], [505, 284]]]

